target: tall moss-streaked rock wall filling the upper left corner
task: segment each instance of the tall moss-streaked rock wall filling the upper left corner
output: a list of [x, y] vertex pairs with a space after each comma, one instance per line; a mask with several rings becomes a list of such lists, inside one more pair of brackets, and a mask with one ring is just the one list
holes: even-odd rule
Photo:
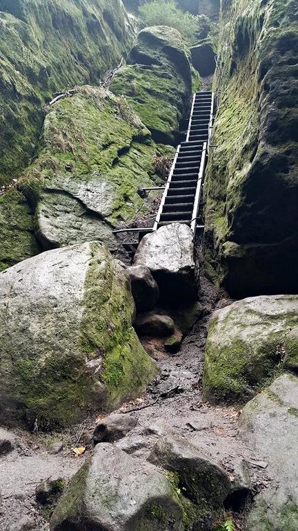
[[75, 84], [97, 84], [130, 48], [121, 0], [0, 0], [0, 183], [25, 167], [43, 102]]

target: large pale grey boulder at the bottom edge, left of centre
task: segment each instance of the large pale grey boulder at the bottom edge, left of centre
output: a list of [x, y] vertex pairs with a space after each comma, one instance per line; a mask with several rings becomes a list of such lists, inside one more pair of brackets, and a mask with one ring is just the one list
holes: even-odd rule
[[50, 530], [183, 531], [184, 518], [166, 474], [103, 443], [70, 481]]

